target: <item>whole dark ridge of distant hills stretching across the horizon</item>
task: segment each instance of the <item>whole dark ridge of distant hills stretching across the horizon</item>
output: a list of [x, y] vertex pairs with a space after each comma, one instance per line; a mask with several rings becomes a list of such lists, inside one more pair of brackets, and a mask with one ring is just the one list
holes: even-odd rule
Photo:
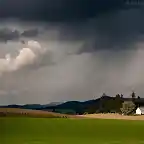
[[[64, 103], [52, 102], [46, 105], [40, 104], [26, 104], [26, 105], [7, 105], [1, 106], [2, 108], [20, 108], [20, 109], [30, 109], [30, 110], [42, 110], [63, 114], [84, 114], [84, 113], [99, 113], [99, 112], [109, 112], [115, 111], [111, 108], [111, 104], [115, 103], [116, 97], [102, 96], [101, 98], [87, 101], [67, 101]], [[132, 100], [132, 98], [119, 97], [120, 103], [124, 101]], [[112, 103], [111, 103], [112, 102]], [[103, 105], [107, 105], [102, 109]], [[144, 98], [135, 98], [134, 103], [137, 106], [144, 106]], [[108, 106], [109, 105], [109, 106]], [[110, 108], [107, 108], [110, 107]]]

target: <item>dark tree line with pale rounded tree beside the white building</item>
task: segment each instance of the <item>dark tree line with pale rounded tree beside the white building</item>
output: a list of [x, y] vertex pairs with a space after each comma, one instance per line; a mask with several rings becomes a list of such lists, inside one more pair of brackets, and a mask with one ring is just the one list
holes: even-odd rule
[[89, 107], [86, 113], [119, 113], [124, 115], [131, 115], [135, 113], [138, 104], [136, 100], [140, 99], [136, 97], [135, 92], [132, 92], [131, 98], [126, 100], [123, 95], [117, 94], [115, 97], [108, 97], [105, 93], [101, 96], [99, 107], [93, 105]]

